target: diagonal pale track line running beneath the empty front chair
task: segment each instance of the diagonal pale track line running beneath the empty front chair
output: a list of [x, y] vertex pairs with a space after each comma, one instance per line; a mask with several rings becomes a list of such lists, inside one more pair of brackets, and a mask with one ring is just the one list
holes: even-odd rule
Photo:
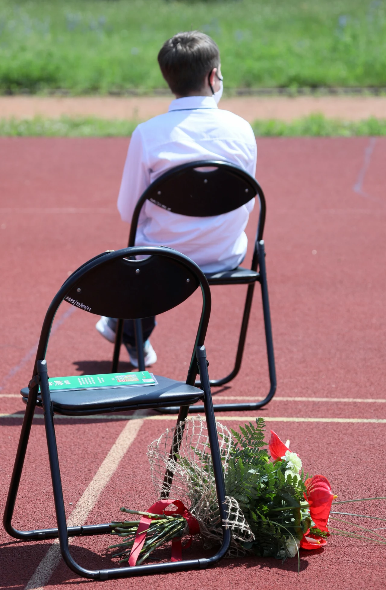
[[[138, 416], [139, 412], [137, 413]], [[84, 525], [88, 514], [93, 510], [95, 503], [98, 500], [101, 492], [107, 486], [111, 477], [116, 471], [121, 459], [123, 459], [131, 443], [136, 438], [138, 431], [143, 424], [143, 418], [133, 416], [126, 426], [124, 427], [121, 434], [118, 436], [116, 442], [114, 442], [110, 451], [108, 451], [105, 460], [101, 464], [97, 473], [95, 473], [90, 484], [88, 484], [84, 493], [80, 497], [74, 510], [72, 510], [70, 516], [67, 519], [67, 526], [79, 526]], [[72, 539], [70, 539], [71, 542]], [[61, 560], [61, 552], [59, 546], [59, 540], [54, 539], [54, 542], [48, 549], [44, 558], [39, 563], [35, 570], [32, 578], [29, 580], [25, 590], [41, 590], [50, 580], [52, 573], [57, 567]]]

